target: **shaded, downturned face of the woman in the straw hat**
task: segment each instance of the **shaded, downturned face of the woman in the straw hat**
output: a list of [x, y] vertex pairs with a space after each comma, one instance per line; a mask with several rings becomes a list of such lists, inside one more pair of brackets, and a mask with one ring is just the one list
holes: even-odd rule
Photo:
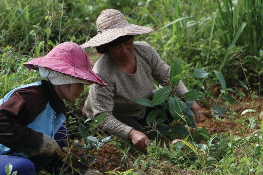
[[113, 60], [115, 60], [115, 62], [117, 63], [126, 62], [134, 55], [133, 38], [117, 46], [109, 46], [108, 50], [110, 55], [113, 57]]

